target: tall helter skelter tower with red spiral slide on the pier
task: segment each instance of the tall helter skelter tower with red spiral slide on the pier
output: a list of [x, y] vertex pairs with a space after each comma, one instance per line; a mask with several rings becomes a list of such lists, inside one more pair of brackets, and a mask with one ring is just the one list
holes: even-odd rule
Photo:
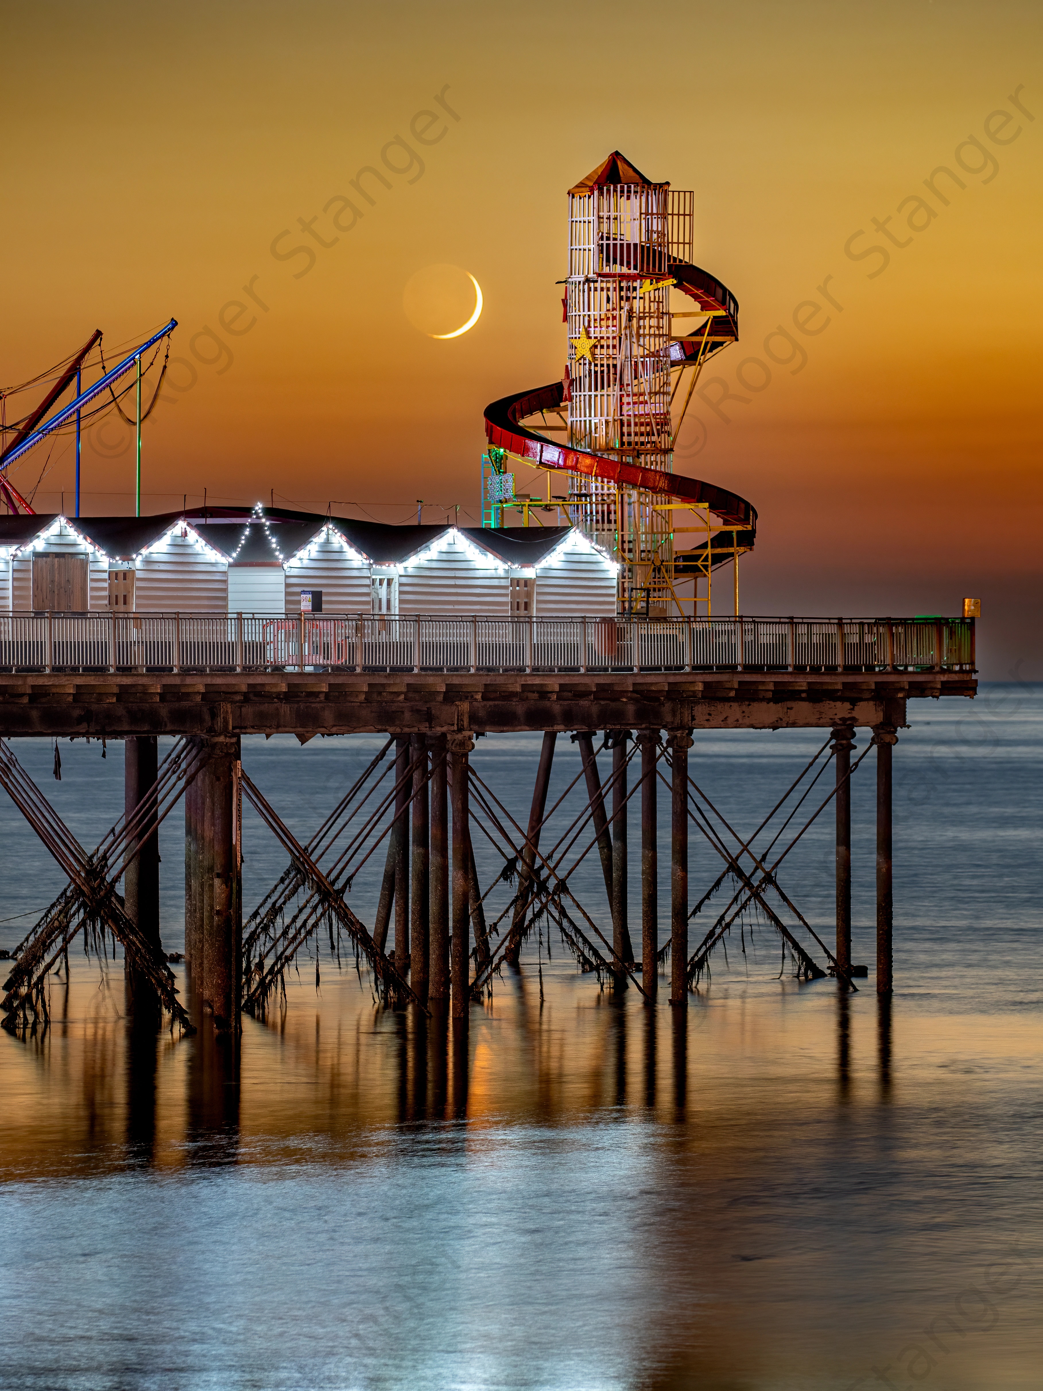
[[[509, 458], [567, 473], [573, 523], [620, 565], [623, 612], [704, 605], [709, 615], [711, 572], [726, 561], [736, 565], [737, 611], [738, 555], [755, 538], [757, 512], [744, 498], [673, 472], [698, 374], [738, 338], [734, 296], [691, 263], [693, 221], [694, 193], [654, 184], [619, 150], [570, 188], [562, 381], [485, 410], [484, 501], [517, 501]], [[672, 289], [690, 310], [672, 313]], [[676, 547], [693, 533], [694, 545]]]

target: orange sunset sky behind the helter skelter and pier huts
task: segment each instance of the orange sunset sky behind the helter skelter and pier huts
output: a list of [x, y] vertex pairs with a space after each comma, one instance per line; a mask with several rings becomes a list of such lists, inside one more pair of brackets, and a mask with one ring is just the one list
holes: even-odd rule
[[[1037, 0], [35, 0], [0, 32], [0, 381], [175, 317], [143, 510], [274, 490], [477, 523], [483, 408], [562, 374], [566, 189], [620, 149], [695, 189], [695, 260], [740, 303], [676, 467], [758, 508], [744, 611], [975, 595], [983, 675], [1043, 677]], [[371, 203], [350, 188], [364, 166], [391, 185], [364, 179]], [[939, 166], [964, 186], [926, 188]], [[484, 312], [437, 341], [403, 295], [442, 263]], [[814, 335], [807, 300], [829, 316]], [[71, 445], [49, 448], [13, 481], [71, 512]], [[132, 509], [132, 431], [110, 417], [83, 512]]]

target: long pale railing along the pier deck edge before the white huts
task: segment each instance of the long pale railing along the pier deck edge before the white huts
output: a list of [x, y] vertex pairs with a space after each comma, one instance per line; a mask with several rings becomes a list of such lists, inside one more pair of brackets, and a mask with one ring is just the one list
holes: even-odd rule
[[971, 672], [960, 618], [0, 613], [7, 672]]

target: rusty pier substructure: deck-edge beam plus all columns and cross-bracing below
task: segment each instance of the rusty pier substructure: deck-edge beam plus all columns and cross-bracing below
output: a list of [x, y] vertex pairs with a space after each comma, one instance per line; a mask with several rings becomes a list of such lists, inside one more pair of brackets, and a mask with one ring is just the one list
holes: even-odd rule
[[[613, 988], [634, 986], [649, 1003], [669, 961], [670, 1003], [684, 1007], [709, 968], [711, 953], [736, 924], [744, 929], [747, 914], [779, 933], [783, 954], [789, 951], [800, 978], [832, 974], [857, 990], [855, 978], [866, 975], [868, 967], [851, 958], [850, 780], [873, 751], [875, 976], [878, 993], [890, 995], [893, 746], [905, 726], [909, 698], [967, 698], [975, 690], [971, 673], [941, 670], [7, 676], [0, 680], [0, 785], [70, 883], [14, 951], [0, 1000], [3, 1027], [18, 1032], [40, 1020], [46, 1025], [49, 975], [63, 964], [67, 968], [70, 943], [81, 931], [88, 946], [93, 942], [97, 949], [100, 943], [102, 954], [107, 935], [113, 950], [117, 942], [122, 944], [132, 1008], [142, 1018], [152, 1020], [163, 1010], [182, 1029], [195, 1027], [178, 999], [159, 936], [157, 832], [182, 797], [185, 960], [196, 1000], [193, 1017], [202, 1010], [224, 1031], [238, 1029], [241, 1010], [264, 1013], [284, 989], [286, 970], [300, 951], [317, 953], [323, 933], [338, 968], [342, 939], [356, 960], [364, 958], [374, 989], [388, 1003], [423, 1010], [451, 1003], [462, 1022], [469, 1002], [491, 989], [492, 976], [503, 967], [517, 967], [526, 939], [551, 926], [560, 932], [580, 970], [611, 981]], [[855, 732], [866, 726], [872, 737], [852, 761]], [[688, 751], [694, 732], [801, 727], [827, 730], [818, 753], [752, 835], [737, 830], [693, 776]], [[527, 829], [470, 759], [476, 736], [503, 732], [542, 733]], [[579, 746], [581, 768], [548, 811], [555, 743], [566, 732]], [[387, 736], [382, 750], [307, 843], [296, 837], [243, 768], [241, 736], [277, 733], [293, 734], [300, 743], [316, 734]], [[178, 736], [161, 762], [159, 734]], [[8, 743], [13, 736], [127, 741], [125, 814], [93, 851], [76, 840], [26, 775]], [[833, 787], [823, 785], [808, 801], [830, 759]], [[811, 782], [775, 839], [755, 850], [754, 842], [797, 796], [805, 778]], [[656, 906], [661, 791], [669, 794], [670, 817], [670, 935], [662, 944]], [[562, 811], [572, 818], [562, 830], [553, 818], [570, 794], [576, 804]], [[627, 804], [634, 797], [641, 832], [634, 862], [641, 874], [640, 958], [627, 922]], [[248, 922], [242, 918], [243, 798], [289, 861]], [[834, 950], [776, 872], [830, 803], [837, 851]], [[798, 811], [802, 823], [791, 826]], [[356, 817], [359, 826], [349, 833]], [[779, 849], [776, 842], [784, 832], [790, 839]], [[718, 878], [694, 906], [690, 833], [719, 861]], [[478, 878], [476, 835], [488, 842], [498, 865], [485, 886]], [[357, 893], [352, 903], [348, 897], [378, 850], [385, 865], [370, 915]], [[594, 855], [591, 862], [601, 861], [601, 907], [581, 901], [573, 879], [587, 854]], [[727, 903], [711, 908], [726, 886], [731, 894]], [[499, 901], [503, 897], [506, 903]], [[584, 897], [590, 897], [590, 886]], [[694, 953], [690, 928], [697, 932]]]

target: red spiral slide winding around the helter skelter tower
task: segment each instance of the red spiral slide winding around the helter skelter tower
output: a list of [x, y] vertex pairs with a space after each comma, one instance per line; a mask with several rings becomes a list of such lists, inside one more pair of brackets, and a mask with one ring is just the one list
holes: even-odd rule
[[[698, 310], [709, 314], [700, 330], [670, 344], [673, 366], [706, 362], [713, 353], [738, 339], [738, 305], [734, 295], [719, 280], [698, 266], [688, 266], [673, 257], [669, 262], [668, 274], [673, 277], [674, 287], [694, 300]], [[565, 385], [560, 381], [503, 396], [485, 408], [485, 435], [494, 448], [506, 449], [508, 453], [531, 463], [534, 467], [584, 473], [591, 479], [604, 479], [608, 483], [630, 488], [644, 488], [679, 502], [697, 502], [708, 506], [720, 519], [722, 526], [737, 529], [736, 540], [741, 549], [752, 548], [757, 537], [757, 509], [738, 494], [719, 488], [713, 483], [688, 479], [680, 473], [662, 473], [637, 463], [623, 463], [609, 455], [572, 449], [519, 424], [519, 420], [524, 420], [526, 416], [531, 416], [537, 410], [553, 410], [563, 402]], [[715, 559], [713, 563], [730, 559], [734, 554], [733, 545], [730, 533], [715, 533], [711, 554], [719, 548], [722, 555], [720, 561]], [[705, 547], [700, 549], [705, 549]], [[725, 551], [727, 554], [723, 554]]]

